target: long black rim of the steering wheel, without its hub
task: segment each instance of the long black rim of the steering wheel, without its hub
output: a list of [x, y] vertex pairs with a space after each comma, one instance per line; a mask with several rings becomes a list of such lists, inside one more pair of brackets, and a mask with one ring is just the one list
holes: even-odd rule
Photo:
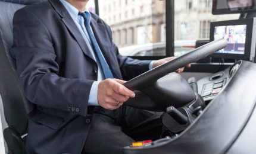
[[167, 75], [168, 73], [174, 72], [175, 70], [182, 68], [189, 63], [193, 63], [207, 57], [208, 55], [223, 49], [227, 46], [227, 41], [224, 39], [211, 41], [210, 43], [205, 44], [204, 46], [198, 47], [191, 52], [183, 54], [176, 59], [171, 60], [170, 62], [164, 63], [154, 69], [148, 70], [145, 73], [142, 73], [139, 76], [136, 76], [133, 79], [130, 79], [124, 86], [131, 90], [140, 90], [145, 86], [148, 86], [150, 83], [155, 83], [158, 79]]

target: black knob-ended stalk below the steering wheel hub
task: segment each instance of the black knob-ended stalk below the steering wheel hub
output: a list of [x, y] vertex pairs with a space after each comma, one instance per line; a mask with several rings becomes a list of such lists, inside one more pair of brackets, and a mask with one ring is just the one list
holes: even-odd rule
[[175, 107], [171, 106], [166, 109], [166, 112], [177, 121], [179, 124], [186, 124], [188, 123], [188, 117], [182, 114], [179, 110]]

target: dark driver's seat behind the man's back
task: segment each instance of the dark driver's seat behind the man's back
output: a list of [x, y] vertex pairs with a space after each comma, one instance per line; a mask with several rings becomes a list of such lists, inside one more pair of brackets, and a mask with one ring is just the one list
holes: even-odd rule
[[4, 139], [8, 153], [26, 153], [27, 113], [30, 107], [17, 84], [15, 63], [9, 50], [13, 46], [13, 15], [25, 5], [46, 0], [0, 0], [0, 95], [8, 127]]

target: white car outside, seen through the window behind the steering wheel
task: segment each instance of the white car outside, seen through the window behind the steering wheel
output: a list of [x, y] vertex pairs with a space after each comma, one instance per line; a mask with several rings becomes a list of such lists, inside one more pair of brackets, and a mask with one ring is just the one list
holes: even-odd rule
[[[195, 49], [195, 40], [174, 41], [174, 56], [181, 56]], [[137, 44], [122, 47], [119, 52], [123, 56], [166, 56], [166, 42]]]

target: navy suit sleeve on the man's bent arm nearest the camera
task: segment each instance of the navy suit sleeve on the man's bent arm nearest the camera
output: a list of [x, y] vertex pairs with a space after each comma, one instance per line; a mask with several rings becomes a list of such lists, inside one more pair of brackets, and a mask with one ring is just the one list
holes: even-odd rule
[[51, 35], [35, 14], [20, 9], [14, 15], [13, 25], [11, 55], [16, 60], [18, 84], [27, 100], [42, 107], [86, 116], [93, 81], [58, 75]]

